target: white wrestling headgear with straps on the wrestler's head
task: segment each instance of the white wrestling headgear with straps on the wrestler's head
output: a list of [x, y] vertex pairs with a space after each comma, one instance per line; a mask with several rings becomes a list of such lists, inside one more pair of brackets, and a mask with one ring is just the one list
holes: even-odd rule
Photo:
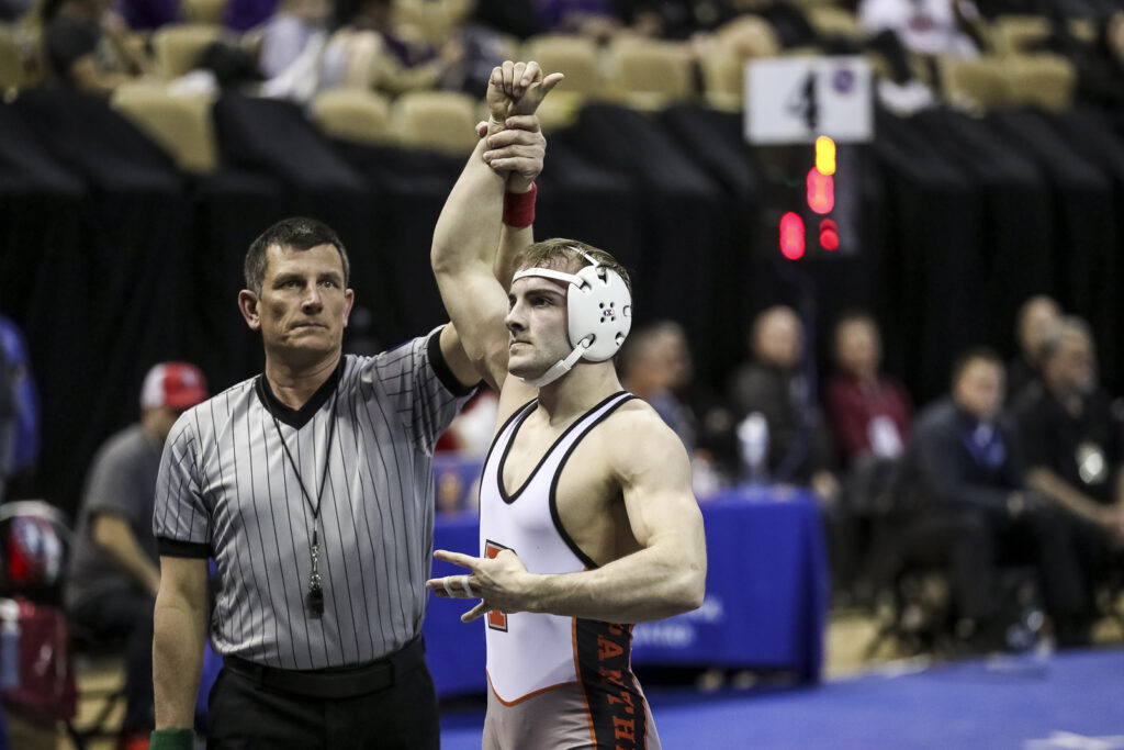
[[565, 358], [555, 362], [537, 378], [523, 378], [528, 386], [542, 388], [573, 369], [578, 360], [604, 362], [611, 359], [625, 343], [632, 328], [632, 295], [620, 274], [598, 264], [580, 247], [571, 247], [590, 265], [578, 273], [554, 269], [529, 268], [515, 274], [511, 282], [525, 277], [542, 277], [570, 284], [566, 291], [568, 333], [573, 344]]

